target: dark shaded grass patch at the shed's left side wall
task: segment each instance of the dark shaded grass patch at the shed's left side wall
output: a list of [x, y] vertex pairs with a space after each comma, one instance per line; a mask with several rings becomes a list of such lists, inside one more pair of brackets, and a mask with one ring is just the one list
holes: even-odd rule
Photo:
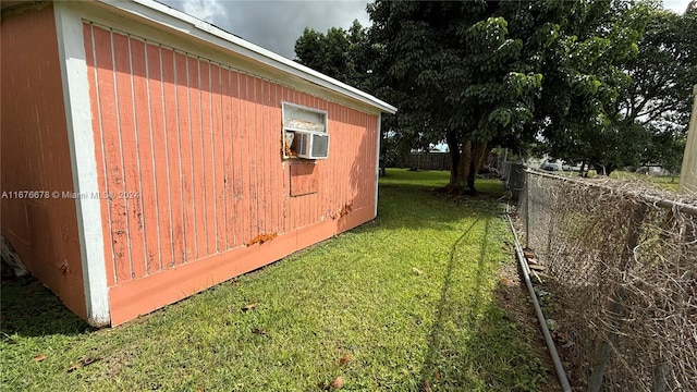
[[34, 278], [2, 281], [1, 340], [12, 343], [12, 335], [72, 335], [94, 331], [70, 311], [51, 291]]

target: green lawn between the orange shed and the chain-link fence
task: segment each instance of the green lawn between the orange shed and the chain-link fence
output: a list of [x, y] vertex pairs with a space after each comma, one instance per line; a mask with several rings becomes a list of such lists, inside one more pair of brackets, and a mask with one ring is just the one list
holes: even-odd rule
[[390, 170], [376, 221], [113, 329], [30, 281], [3, 283], [0, 388], [319, 391], [342, 377], [352, 391], [539, 390], [530, 330], [494, 299], [514, 262], [501, 207], [433, 192], [447, 182]]

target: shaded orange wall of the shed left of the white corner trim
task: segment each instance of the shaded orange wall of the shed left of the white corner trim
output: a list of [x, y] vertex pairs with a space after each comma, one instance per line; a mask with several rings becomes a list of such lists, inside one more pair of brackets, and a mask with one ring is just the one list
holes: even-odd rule
[[[41, 5], [39, 5], [41, 7]], [[2, 234], [27, 269], [87, 317], [60, 58], [52, 4], [0, 24]], [[40, 191], [41, 197], [13, 192]], [[58, 194], [53, 194], [58, 192]]]

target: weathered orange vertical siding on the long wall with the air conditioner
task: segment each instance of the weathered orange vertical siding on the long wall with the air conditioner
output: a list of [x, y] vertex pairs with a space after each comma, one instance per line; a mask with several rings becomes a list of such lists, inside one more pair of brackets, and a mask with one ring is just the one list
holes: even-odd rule
[[[375, 208], [376, 115], [90, 23], [84, 37], [110, 285]], [[281, 158], [282, 101], [328, 112], [316, 193], [291, 196], [308, 162]]]

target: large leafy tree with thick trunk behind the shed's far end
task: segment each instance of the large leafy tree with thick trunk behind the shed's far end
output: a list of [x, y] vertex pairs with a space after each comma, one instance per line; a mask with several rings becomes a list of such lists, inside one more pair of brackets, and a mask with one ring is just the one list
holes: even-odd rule
[[616, 23], [624, 8], [376, 1], [368, 12], [384, 48], [377, 70], [399, 91], [400, 125], [445, 140], [450, 188], [474, 191], [488, 143], [537, 139], [553, 152], [578, 151], [586, 136], [599, 137], [603, 108], [628, 81], [622, 65], [636, 53], [641, 28]]

